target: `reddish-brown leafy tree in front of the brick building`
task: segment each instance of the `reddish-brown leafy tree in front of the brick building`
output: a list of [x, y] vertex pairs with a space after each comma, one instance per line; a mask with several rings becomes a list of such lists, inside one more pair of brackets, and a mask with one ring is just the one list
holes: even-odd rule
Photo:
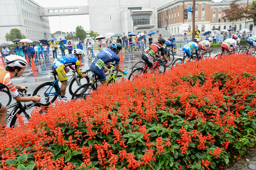
[[228, 20], [234, 21], [241, 18], [253, 19], [254, 25], [256, 25], [256, 1], [253, 0], [251, 5], [248, 5], [245, 8], [240, 8], [240, 5], [236, 2], [230, 3], [230, 8], [225, 9], [225, 16]]

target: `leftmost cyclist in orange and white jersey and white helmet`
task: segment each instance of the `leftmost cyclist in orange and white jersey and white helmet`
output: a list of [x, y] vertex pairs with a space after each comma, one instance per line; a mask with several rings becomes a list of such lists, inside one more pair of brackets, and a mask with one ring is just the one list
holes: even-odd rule
[[[7, 67], [5, 69], [0, 68], [0, 90], [3, 88], [7, 88], [12, 97], [17, 102], [40, 102], [41, 99], [38, 96], [21, 97], [16, 88], [28, 91], [27, 88], [24, 86], [15, 85], [11, 80], [14, 77], [21, 77], [23, 75], [23, 73], [25, 72], [25, 68], [28, 66], [26, 59], [22, 56], [17, 55], [9, 55], [6, 56], [5, 59]], [[4, 126], [4, 124], [6, 123], [6, 114], [6, 107], [0, 103], [0, 127]]]

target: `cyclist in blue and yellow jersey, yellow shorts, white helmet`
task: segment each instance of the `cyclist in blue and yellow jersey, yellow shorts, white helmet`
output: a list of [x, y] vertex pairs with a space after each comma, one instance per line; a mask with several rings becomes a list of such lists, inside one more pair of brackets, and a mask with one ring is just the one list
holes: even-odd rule
[[[65, 97], [66, 93], [66, 87], [67, 87], [67, 75], [65, 72], [65, 68], [70, 65], [75, 65], [76, 72], [81, 77], [86, 77], [86, 74], [82, 74], [79, 67], [80, 67], [80, 60], [85, 56], [85, 53], [81, 49], [74, 49], [74, 55], [69, 54], [66, 56], [63, 56], [59, 59], [57, 59], [56, 62], [52, 65], [53, 72], [58, 76], [60, 82], [61, 82], [61, 94], [60, 99], [62, 100], [68, 100], [67, 97]], [[67, 71], [67, 70], [66, 70]], [[68, 69], [69, 71], [69, 69]], [[68, 72], [67, 71], [67, 72]]]

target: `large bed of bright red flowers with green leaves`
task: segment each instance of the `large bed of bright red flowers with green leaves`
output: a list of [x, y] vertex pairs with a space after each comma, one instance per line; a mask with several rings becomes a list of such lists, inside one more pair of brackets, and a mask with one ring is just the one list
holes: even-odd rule
[[56, 102], [0, 130], [0, 168], [224, 167], [256, 142], [255, 72], [255, 57], [231, 55]]

